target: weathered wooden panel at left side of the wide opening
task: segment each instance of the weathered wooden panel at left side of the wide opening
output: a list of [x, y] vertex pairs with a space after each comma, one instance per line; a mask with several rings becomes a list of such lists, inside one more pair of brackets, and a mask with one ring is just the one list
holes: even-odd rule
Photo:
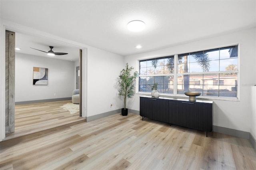
[[5, 33], [5, 133], [14, 132], [15, 32]]

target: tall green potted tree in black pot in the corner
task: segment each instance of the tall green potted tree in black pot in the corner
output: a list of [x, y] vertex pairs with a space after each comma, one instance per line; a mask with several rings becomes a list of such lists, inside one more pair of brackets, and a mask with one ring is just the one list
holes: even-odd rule
[[129, 67], [128, 63], [126, 63], [126, 66], [119, 75], [119, 90], [118, 95], [124, 98], [124, 108], [122, 108], [122, 115], [127, 116], [128, 115], [128, 109], [126, 108], [126, 97], [132, 98], [132, 96], [135, 94], [135, 86], [134, 86], [134, 80], [138, 76], [138, 71], [135, 71], [133, 74], [131, 74], [131, 71], [133, 70], [133, 67]]

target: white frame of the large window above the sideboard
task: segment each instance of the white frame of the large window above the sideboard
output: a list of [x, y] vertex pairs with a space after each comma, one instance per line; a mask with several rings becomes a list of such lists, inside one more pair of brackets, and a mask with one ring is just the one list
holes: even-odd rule
[[[236, 88], [236, 97], [222, 97], [222, 96], [203, 96], [200, 95], [197, 98], [199, 99], [216, 99], [216, 100], [228, 100], [228, 101], [239, 101], [239, 89], [240, 89], [240, 81], [239, 81], [239, 76], [240, 76], [240, 72], [239, 72], [239, 66], [240, 66], [240, 45], [239, 44], [232, 44], [232, 45], [226, 45], [226, 46], [221, 46], [221, 47], [215, 47], [212, 49], [204, 49], [201, 51], [209, 51], [209, 50], [214, 50], [214, 49], [224, 49], [224, 48], [228, 48], [228, 47], [232, 47], [232, 46], [237, 46], [237, 70], [234, 71], [209, 71], [209, 72], [196, 72], [196, 73], [182, 73], [182, 75], [196, 75], [196, 74], [222, 74], [222, 73], [237, 73], [237, 88]], [[196, 53], [198, 51], [195, 52], [190, 52], [190, 53]], [[200, 52], [200, 51], [199, 51]], [[161, 74], [161, 75], [150, 75], [150, 76], [169, 76], [172, 75], [173, 76], [173, 94], [170, 93], [160, 93], [160, 96], [162, 97], [179, 97], [179, 98], [187, 98], [186, 95], [184, 94], [178, 94], [177, 93], [177, 89], [178, 89], [178, 75], [180, 75], [181, 73], [178, 73], [177, 71], [177, 67], [178, 67], [178, 54], [174, 54], [174, 55], [164, 55], [164, 56], [159, 56], [159, 57], [151, 57], [151, 58], [147, 58], [148, 60], [150, 59], [159, 59], [159, 58], [164, 58], [164, 57], [168, 57], [168, 56], [174, 56], [174, 73], [173, 74]], [[138, 59], [137, 63], [138, 63], [138, 72], [140, 72], [140, 61], [145, 61], [147, 59]], [[219, 58], [218, 61], [220, 61], [221, 59]], [[149, 75], [139, 75], [138, 77], [145, 77], [145, 76], [149, 76]], [[136, 93], [137, 94], [144, 94], [144, 95], [150, 95], [151, 92], [143, 92], [143, 91], [139, 91], [139, 78], [137, 79], [138, 81], [136, 81]], [[220, 80], [220, 77], [218, 79], [218, 81]], [[204, 81], [204, 80], [203, 80]], [[204, 82], [201, 82], [200, 85], [203, 85]], [[220, 89], [220, 84], [218, 83], [218, 90]], [[202, 87], [203, 88], [203, 87]], [[202, 89], [203, 90], [203, 89]]]

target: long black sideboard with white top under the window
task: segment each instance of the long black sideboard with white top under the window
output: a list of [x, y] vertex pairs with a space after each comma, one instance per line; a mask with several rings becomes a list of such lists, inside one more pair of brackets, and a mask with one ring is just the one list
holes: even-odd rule
[[212, 131], [212, 101], [140, 97], [140, 116], [195, 130]]

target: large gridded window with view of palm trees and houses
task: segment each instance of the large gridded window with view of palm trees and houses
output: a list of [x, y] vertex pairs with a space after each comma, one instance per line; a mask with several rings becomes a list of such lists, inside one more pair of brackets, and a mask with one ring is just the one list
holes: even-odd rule
[[[174, 63], [177, 63], [174, 65]], [[237, 97], [238, 45], [140, 61], [139, 91]]]

